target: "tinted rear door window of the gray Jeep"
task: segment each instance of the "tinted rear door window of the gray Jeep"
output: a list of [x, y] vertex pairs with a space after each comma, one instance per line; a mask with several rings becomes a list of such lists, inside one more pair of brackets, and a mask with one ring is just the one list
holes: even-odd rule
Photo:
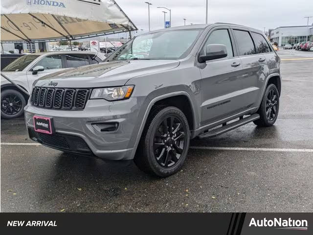
[[252, 38], [247, 31], [234, 30], [240, 55], [256, 54]]

